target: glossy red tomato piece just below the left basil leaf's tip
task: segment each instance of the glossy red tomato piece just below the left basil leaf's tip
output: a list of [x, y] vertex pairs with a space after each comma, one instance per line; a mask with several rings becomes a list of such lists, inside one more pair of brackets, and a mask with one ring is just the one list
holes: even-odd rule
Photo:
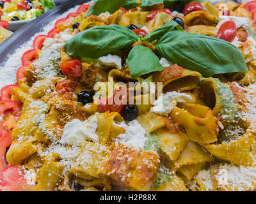
[[60, 69], [68, 78], [81, 78], [82, 77], [82, 64], [77, 60], [69, 62], [61, 62]]

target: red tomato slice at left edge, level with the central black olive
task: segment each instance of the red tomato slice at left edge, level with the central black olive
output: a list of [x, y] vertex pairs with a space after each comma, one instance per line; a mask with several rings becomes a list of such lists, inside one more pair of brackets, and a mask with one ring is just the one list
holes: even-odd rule
[[19, 117], [21, 114], [22, 105], [19, 101], [6, 100], [0, 102], [0, 115], [1, 113], [13, 112], [13, 115]]

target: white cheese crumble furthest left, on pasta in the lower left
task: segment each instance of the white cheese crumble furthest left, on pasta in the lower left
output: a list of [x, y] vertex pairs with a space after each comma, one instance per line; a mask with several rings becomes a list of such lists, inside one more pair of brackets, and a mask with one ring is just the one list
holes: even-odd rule
[[84, 122], [78, 119], [68, 122], [64, 127], [60, 143], [79, 145], [83, 143], [84, 140], [99, 142], [99, 136], [95, 133], [98, 121], [98, 117], [93, 115]]

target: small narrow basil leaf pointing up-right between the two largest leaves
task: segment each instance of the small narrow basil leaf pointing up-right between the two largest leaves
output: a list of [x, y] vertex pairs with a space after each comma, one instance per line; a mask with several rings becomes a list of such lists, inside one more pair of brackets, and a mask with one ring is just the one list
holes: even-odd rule
[[159, 38], [164, 36], [164, 34], [168, 33], [169, 31], [172, 31], [174, 27], [177, 27], [179, 31], [183, 31], [182, 27], [179, 24], [177, 24], [177, 22], [170, 21], [167, 24], [165, 24], [163, 27], [158, 27], [152, 33], [148, 33], [147, 36], [145, 36], [145, 38], [142, 38], [142, 40], [145, 40], [148, 42], [158, 40]]

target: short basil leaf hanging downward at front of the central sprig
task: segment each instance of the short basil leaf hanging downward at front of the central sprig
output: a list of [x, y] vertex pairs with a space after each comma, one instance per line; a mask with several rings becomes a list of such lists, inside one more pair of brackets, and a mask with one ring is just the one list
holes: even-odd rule
[[150, 48], [136, 45], [128, 55], [127, 63], [131, 71], [131, 77], [137, 78], [153, 71], [162, 71], [164, 68], [159, 58]]

